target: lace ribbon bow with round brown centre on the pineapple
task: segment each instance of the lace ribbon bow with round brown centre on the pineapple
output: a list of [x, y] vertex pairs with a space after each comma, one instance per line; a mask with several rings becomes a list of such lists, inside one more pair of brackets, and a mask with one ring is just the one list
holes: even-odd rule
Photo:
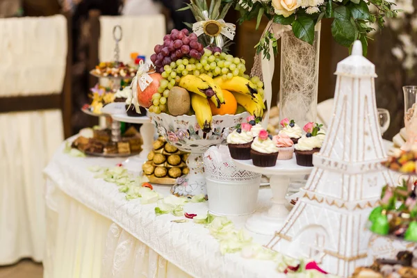
[[204, 33], [211, 37], [211, 44], [215, 40], [215, 44], [220, 48], [224, 45], [222, 35], [229, 38], [229, 40], [233, 40], [236, 31], [235, 24], [226, 23], [223, 19], [209, 19], [208, 12], [206, 10], [203, 11], [203, 15], [206, 20], [195, 22], [195, 24], [193, 24], [193, 32], [197, 35], [197, 37]]

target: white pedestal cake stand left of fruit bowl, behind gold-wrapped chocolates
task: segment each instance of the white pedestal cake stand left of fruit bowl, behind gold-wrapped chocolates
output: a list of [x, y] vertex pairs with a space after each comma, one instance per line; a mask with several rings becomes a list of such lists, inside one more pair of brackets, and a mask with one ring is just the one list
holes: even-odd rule
[[123, 166], [133, 172], [142, 171], [142, 164], [147, 161], [147, 155], [152, 151], [152, 143], [154, 142], [155, 128], [151, 119], [147, 116], [129, 117], [127, 114], [111, 114], [113, 120], [118, 122], [129, 122], [131, 124], [142, 124], [139, 133], [142, 136], [143, 145], [142, 152], [137, 156], [131, 156], [124, 161]]

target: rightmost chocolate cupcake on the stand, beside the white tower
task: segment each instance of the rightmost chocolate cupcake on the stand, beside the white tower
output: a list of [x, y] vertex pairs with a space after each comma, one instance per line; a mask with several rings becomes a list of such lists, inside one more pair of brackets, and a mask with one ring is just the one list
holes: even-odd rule
[[295, 158], [300, 166], [313, 167], [313, 154], [319, 152], [323, 144], [324, 138], [320, 132], [320, 126], [313, 122], [307, 123], [303, 127], [306, 135], [302, 136], [295, 147]]

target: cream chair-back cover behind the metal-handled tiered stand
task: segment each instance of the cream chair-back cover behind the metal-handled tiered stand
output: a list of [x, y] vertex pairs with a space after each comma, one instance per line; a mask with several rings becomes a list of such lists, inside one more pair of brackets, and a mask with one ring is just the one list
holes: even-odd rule
[[99, 60], [114, 60], [115, 40], [113, 27], [122, 26], [123, 37], [119, 43], [120, 60], [130, 61], [131, 52], [138, 52], [149, 60], [156, 44], [163, 43], [165, 17], [163, 15], [141, 15], [139, 17], [100, 17]]

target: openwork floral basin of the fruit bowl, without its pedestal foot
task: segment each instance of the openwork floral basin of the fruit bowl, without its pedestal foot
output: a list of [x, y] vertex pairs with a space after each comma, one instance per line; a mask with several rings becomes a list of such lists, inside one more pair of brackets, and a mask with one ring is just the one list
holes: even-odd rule
[[172, 116], [165, 113], [149, 113], [159, 135], [183, 152], [202, 154], [215, 145], [223, 145], [237, 124], [248, 116], [247, 112], [238, 115], [215, 115], [210, 132], [200, 129], [195, 115]]

